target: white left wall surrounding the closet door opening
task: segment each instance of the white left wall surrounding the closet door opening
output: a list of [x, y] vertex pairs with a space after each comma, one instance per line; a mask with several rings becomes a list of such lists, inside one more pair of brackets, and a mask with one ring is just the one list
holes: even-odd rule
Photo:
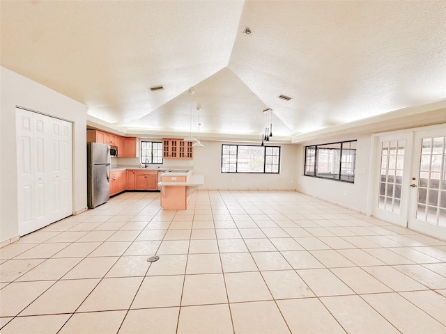
[[86, 106], [0, 67], [0, 244], [17, 237], [15, 107], [73, 123], [73, 211], [86, 209]]

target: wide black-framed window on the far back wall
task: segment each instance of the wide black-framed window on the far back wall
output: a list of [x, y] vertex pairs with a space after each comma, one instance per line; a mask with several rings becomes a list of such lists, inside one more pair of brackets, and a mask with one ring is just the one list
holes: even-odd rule
[[279, 146], [222, 145], [222, 173], [279, 173]]

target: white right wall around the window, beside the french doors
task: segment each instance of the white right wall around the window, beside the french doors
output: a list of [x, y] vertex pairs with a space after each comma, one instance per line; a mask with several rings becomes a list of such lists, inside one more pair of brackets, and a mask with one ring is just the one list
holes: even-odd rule
[[[355, 139], [357, 139], [357, 150], [354, 184], [304, 175], [306, 145], [334, 143], [337, 141], [351, 141]], [[328, 200], [330, 202], [351, 207], [352, 209], [360, 212], [366, 212], [370, 150], [371, 136], [369, 134], [349, 134], [330, 138], [326, 141], [313, 141], [298, 145], [298, 159], [296, 159], [296, 169], [298, 170], [298, 191]]]

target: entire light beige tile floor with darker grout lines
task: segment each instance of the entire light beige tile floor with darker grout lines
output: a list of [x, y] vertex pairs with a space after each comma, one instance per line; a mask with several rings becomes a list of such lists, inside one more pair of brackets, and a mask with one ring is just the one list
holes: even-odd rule
[[0, 248], [0, 333], [446, 333], [446, 242], [294, 192], [159, 202]]

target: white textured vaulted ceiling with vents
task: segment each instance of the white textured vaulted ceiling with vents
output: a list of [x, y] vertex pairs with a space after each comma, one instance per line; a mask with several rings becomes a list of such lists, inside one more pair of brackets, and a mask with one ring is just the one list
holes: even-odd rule
[[181, 136], [199, 118], [203, 137], [260, 138], [270, 108], [289, 140], [446, 98], [446, 1], [0, 6], [2, 66], [129, 133]]

